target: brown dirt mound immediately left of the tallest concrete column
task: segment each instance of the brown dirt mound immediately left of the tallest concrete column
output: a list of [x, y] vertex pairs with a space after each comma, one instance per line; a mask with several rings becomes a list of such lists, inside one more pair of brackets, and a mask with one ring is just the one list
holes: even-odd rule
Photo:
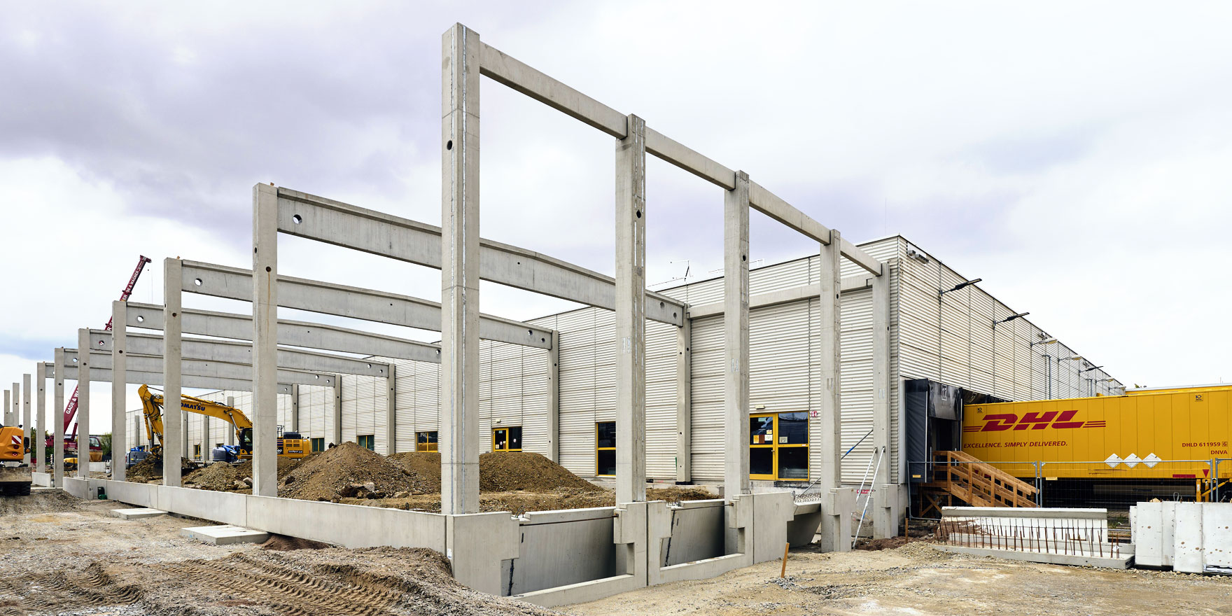
[[280, 496], [302, 500], [409, 495], [414, 489], [400, 464], [355, 442], [304, 460], [278, 483]]

